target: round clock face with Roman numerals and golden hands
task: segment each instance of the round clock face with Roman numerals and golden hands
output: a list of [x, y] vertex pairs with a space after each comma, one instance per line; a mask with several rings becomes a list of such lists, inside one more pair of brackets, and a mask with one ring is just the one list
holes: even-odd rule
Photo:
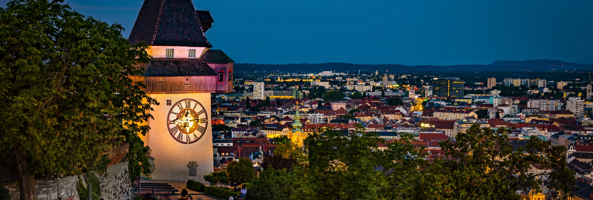
[[182, 144], [200, 140], [208, 128], [208, 114], [196, 99], [181, 99], [171, 106], [167, 117], [169, 134]]

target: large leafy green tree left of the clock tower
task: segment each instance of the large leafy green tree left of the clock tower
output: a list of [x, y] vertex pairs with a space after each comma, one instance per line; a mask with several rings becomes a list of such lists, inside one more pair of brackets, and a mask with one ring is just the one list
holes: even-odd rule
[[123, 142], [130, 176], [151, 172], [138, 134], [158, 102], [127, 77], [144, 73], [148, 47], [62, 3], [0, 8], [0, 163], [16, 167], [23, 200], [36, 198], [35, 175], [79, 173]]

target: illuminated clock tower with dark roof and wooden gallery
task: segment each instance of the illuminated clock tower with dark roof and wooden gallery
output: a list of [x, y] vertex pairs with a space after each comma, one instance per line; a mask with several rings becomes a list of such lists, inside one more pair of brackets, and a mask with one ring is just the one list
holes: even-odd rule
[[160, 102], [142, 137], [154, 157], [153, 179], [203, 181], [213, 171], [210, 96], [232, 92], [234, 61], [210, 49], [205, 32], [212, 22], [191, 0], [145, 0], [130, 33], [130, 43], [148, 44], [153, 57], [138, 64], [143, 76], [130, 77]]

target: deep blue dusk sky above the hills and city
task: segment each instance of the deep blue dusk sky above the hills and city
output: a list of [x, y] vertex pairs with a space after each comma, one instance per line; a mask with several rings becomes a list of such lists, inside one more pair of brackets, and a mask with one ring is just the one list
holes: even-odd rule
[[[127, 37], [143, 0], [66, 2]], [[212, 13], [213, 49], [237, 63], [593, 63], [591, 0], [193, 2]]]

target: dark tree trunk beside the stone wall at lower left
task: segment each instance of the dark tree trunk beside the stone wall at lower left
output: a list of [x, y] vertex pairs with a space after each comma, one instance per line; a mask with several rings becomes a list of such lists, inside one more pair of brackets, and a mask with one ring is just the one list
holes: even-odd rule
[[20, 189], [21, 200], [35, 199], [35, 174], [29, 171], [27, 152], [17, 150], [15, 162], [18, 172], [18, 188]]

